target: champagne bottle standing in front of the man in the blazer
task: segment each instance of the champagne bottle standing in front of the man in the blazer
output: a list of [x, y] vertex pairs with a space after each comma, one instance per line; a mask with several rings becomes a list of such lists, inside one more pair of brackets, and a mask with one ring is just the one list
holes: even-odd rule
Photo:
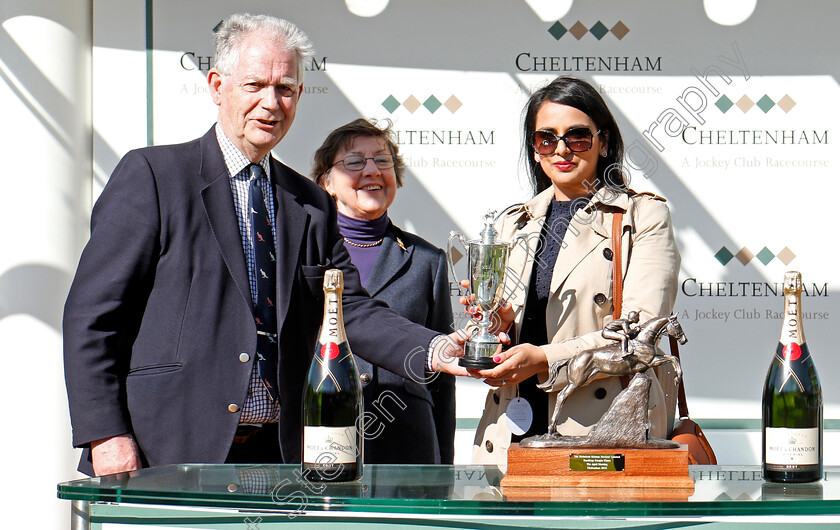
[[324, 275], [324, 320], [303, 389], [301, 473], [312, 482], [362, 476], [362, 390], [344, 332], [341, 271]]

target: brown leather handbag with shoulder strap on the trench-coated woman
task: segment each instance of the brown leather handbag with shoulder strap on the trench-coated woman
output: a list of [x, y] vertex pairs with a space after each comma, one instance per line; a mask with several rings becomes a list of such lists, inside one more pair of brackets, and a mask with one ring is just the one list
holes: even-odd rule
[[[623, 215], [620, 211], [613, 213], [612, 225], [612, 250], [613, 250], [613, 319], [621, 318], [621, 304], [623, 297], [623, 278], [621, 272], [621, 231], [623, 229]], [[669, 337], [671, 342], [671, 355], [680, 358], [680, 348], [677, 339]], [[622, 376], [621, 386], [627, 388], [630, 378]], [[688, 417], [688, 405], [685, 402], [685, 384], [680, 378], [679, 393], [677, 394], [677, 408], [680, 412], [680, 420], [674, 426], [671, 433], [671, 440], [686, 444], [688, 446], [688, 463], [715, 465], [717, 458], [715, 451], [703, 430], [697, 423]]]

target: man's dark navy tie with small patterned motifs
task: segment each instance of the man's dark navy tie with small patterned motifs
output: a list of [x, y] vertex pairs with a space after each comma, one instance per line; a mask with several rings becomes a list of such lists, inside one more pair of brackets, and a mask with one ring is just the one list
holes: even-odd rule
[[251, 241], [254, 246], [254, 272], [257, 276], [257, 304], [254, 321], [257, 324], [257, 368], [271, 398], [277, 400], [277, 289], [274, 235], [259, 181], [265, 172], [259, 164], [251, 164], [248, 206], [251, 215]]

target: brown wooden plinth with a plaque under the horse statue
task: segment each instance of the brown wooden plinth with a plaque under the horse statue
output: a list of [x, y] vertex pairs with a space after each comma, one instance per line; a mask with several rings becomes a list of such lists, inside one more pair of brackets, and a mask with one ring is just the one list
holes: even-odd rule
[[[588, 469], [572, 469], [581, 466]], [[607, 470], [609, 467], [623, 470]], [[515, 491], [512, 488], [655, 488], [681, 490], [678, 494], [685, 498], [694, 491], [686, 445], [676, 449], [526, 449], [513, 444], [508, 449], [508, 468], [501, 486], [510, 492]]]

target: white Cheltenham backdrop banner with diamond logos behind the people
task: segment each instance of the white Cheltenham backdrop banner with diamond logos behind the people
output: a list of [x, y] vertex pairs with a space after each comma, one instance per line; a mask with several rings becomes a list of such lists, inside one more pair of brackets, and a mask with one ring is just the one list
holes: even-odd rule
[[[622, 129], [631, 186], [666, 197], [673, 213], [693, 415], [760, 417], [780, 284], [799, 270], [826, 416], [838, 417], [840, 5], [147, 0], [129, 21], [121, 4], [137, 10], [95, 5], [100, 184], [128, 148], [212, 126], [213, 28], [232, 9], [266, 13], [297, 23], [317, 53], [275, 156], [307, 174], [335, 127], [391, 120], [408, 171], [389, 213], [439, 246], [450, 230], [477, 235], [488, 209], [530, 197], [520, 152], [529, 92], [557, 75], [590, 81]], [[481, 391], [459, 387], [459, 417], [480, 415], [483, 398], [462, 396]]]

